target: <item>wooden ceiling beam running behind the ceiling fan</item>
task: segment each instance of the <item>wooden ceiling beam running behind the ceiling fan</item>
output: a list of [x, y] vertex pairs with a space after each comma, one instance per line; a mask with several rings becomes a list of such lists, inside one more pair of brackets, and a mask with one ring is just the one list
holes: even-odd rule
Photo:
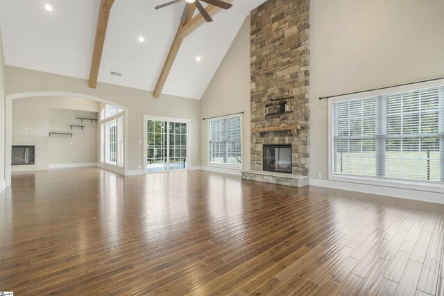
[[[230, 3], [232, 0], [225, 0], [225, 2]], [[173, 67], [174, 60], [176, 60], [176, 56], [180, 49], [180, 45], [182, 45], [182, 40], [187, 37], [189, 34], [193, 33], [199, 26], [205, 24], [205, 19], [200, 13], [193, 17], [194, 10], [196, 6], [192, 6], [189, 10], [192, 13], [188, 14], [187, 21], [180, 23], [176, 36], [174, 37], [173, 44], [171, 44], [171, 49], [169, 50], [167, 60], [164, 63], [164, 67], [162, 68], [162, 72], [160, 72], [159, 80], [157, 80], [157, 84], [154, 89], [154, 98], [159, 98], [162, 93], [162, 89], [164, 88], [165, 82], [167, 82], [167, 78], [169, 75], [169, 71], [171, 71], [171, 67]], [[221, 8], [216, 6], [208, 5], [205, 10], [207, 10], [208, 14], [212, 17], [216, 15]], [[192, 19], [191, 19], [192, 18]]]

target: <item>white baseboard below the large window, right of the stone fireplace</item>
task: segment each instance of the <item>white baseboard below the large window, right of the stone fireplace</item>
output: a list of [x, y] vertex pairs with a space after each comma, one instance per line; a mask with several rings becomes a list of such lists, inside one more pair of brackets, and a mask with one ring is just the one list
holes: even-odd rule
[[310, 186], [321, 186], [347, 191], [357, 191], [376, 195], [392, 196], [394, 198], [407, 198], [409, 200], [420, 200], [423, 202], [444, 203], [443, 193], [425, 192], [413, 189], [393, 188], [387, 186], [375, 186], [368, 184], [357, 184], [349, 182], [338, 182], [332, 180], [311, 179]]

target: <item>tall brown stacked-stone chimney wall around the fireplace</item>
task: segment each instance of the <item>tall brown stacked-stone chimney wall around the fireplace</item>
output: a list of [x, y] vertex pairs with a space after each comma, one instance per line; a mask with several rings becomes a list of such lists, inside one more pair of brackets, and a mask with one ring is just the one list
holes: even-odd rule
[[[268, 0], [251, 12], [251, 128], [298, 124], [301, 130], [251, 133], [251, 169], [262, 171], [262, 144], [291, 143], [292, 173], [309, 173], [309, 0]], [[270, 99], [292, 113], [264, 116]], [[275, 109], [269, 112], [275, 112]]]

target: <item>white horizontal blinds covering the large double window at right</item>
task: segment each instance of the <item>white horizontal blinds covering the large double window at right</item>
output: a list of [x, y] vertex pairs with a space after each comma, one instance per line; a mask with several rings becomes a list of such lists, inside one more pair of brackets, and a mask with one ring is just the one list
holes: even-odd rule
[[332, 103], [333, 173], [444, 181], [444, 87]]

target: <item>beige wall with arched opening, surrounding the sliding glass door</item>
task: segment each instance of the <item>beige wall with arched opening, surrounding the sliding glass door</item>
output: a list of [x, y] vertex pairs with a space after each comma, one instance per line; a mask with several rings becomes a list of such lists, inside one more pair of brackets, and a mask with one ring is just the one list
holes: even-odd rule
[[87, 86], [87, 80], [60, 76], [17, 67], [6, 67], [6, 94], [21, 92], [74, 92], [96, 96], [128, 108], [128, 170], [137, 170], [143, 164], [143, 115], [169, 116], [191, 119], [191, 166], [200, 164], [200, 103], [198, 100], [162, 95], [153, 98], [151, 92], [117, 85], [98, 83], [96, 89]]

